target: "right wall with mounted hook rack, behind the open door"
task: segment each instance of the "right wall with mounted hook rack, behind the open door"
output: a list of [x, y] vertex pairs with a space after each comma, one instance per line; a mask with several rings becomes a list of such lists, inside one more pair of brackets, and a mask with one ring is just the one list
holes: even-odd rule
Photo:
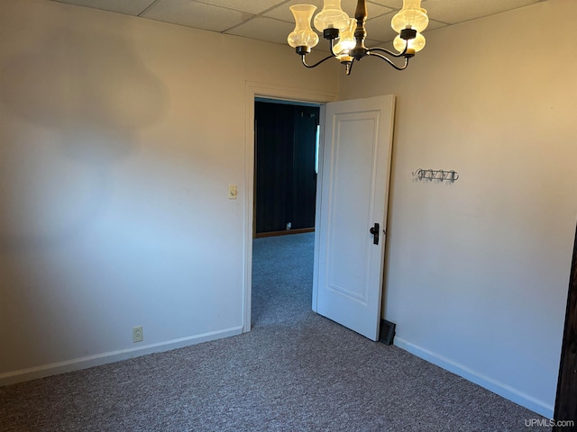
[[[384, 299], [396, 344], [549, 417], [577, 216], [572, 14], [574, 0], [550, 0], [425, 32], [408, 70], [363, 59], [339, 94], [398, 95]], [[460, 178], [418, 182], [417, 168]]]

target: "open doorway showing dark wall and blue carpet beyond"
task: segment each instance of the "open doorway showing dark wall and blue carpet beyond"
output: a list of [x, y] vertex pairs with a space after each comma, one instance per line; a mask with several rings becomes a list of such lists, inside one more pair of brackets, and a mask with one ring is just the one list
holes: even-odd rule
[[254, 100], [255, 327], [295, 322], [311, 313], [320, 106]]

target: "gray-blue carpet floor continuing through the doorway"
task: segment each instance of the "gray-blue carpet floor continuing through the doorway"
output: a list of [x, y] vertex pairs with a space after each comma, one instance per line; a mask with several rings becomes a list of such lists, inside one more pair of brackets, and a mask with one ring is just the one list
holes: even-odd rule
[[254, 241], [250, 333], [0, 388], [0, 431], [550, 430], [310, 311], [313, 241]]

